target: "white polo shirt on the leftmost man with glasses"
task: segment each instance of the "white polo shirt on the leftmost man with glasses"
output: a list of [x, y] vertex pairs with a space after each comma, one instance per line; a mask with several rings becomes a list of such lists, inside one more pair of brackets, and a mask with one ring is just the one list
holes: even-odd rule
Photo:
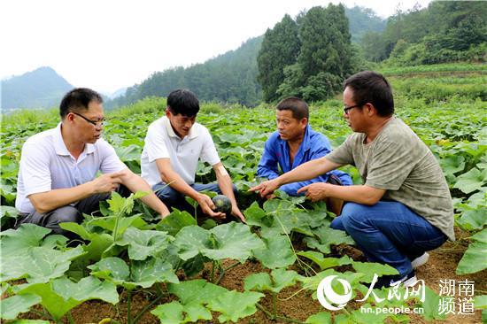
[[15, 208], [35, 212], [29, 195], [52, 189], [65, 189], [92, 181], [98, 170], [104, 174], [127, 168], [103, 139], [85, 145], [76, 160], [66, 149], [58, 127], [31, 136], [22, 147]]

